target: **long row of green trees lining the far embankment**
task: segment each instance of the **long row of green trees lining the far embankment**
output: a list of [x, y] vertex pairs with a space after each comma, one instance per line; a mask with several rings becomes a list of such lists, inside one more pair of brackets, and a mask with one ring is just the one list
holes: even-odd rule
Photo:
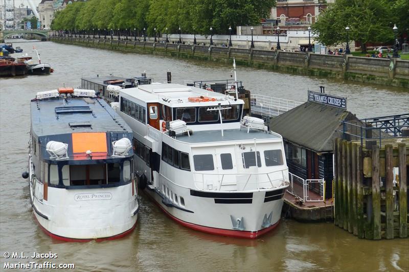
[[259, 24], [276, 0], [88, 0], [55, 15], [53, 30], [153, 29], [164, 33], [227, 34], [231, 26]]

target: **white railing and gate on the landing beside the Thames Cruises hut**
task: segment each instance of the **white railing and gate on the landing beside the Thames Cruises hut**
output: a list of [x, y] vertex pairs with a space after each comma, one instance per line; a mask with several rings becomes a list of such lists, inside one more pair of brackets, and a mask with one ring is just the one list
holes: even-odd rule
[[[287, 191], [302, 202], [324, 201], [325, 180], [303, 179], [292, 173], [289, 174], [290, 186]], [[295, 185], [294, 185], [295, 184]]]

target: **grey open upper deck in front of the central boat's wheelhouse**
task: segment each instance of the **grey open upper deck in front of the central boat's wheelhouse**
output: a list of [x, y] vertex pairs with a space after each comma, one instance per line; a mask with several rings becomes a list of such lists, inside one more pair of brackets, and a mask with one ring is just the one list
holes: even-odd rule
[[177, 135], [176, 140], [187, 143], [209, 143], [209, 142], [225, 142], [225, 141], [240, 141], [240, 140], [261, 140], [261, 139], [281, 139], [281, 136], [276, 133], [265, 133], [258, 130], [250, 129], [247, 133], [246, 128], [223, 130], [224, 136], [221, 136], [220, 130], [194, 131], [193, 135]]

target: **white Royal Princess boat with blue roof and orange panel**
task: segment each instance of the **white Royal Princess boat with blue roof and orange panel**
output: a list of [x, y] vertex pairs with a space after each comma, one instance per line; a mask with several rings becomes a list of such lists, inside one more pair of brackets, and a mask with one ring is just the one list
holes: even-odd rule
[[139, 204], [132, 131], [94, 90], [60, 88], [31, 101], [30, 199], [40, 227], [65, 241], [130, 233]]

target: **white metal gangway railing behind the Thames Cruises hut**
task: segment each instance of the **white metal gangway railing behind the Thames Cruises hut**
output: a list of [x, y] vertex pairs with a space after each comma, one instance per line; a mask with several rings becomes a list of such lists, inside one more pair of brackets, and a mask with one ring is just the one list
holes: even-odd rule
[[271, 97], [253, 92], [251, 94], [250, 102], [252, 113], [269, 117], [280, 115], [281, 113], [301, 104], [303, 104], [303, 102]]

